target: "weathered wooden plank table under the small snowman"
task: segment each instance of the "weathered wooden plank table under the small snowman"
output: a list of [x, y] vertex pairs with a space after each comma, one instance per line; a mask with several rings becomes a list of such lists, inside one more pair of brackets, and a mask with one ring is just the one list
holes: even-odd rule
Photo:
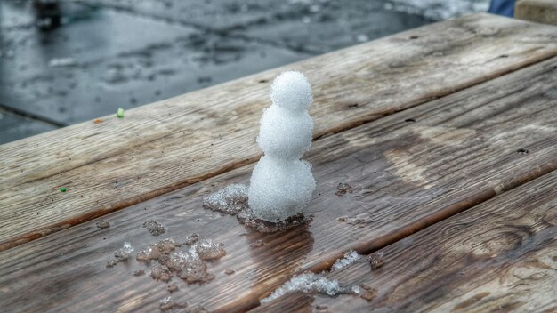
[[[249, 181], [270, 81], [287, 69], [314, 90], [315, 217], [261, 234], [202, 199]], [[169, 295], [217, 312], [557, 310], [556, 27], [468, 15], [99, 122], [0, 146], [3, 311], [153, 312]], [[194, 232], [227, 252], [205, 285], [156, 281], [134, 258]], [[133, 257], [107, 268], [125, 241]], [[328, 272], [350, 249], [384, 264]], [[374, 297], [260, 305], [307, 270]]]

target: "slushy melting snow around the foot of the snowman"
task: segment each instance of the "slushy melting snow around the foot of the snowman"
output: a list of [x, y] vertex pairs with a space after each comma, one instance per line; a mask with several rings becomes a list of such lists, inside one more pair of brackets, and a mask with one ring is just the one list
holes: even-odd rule
[[271, 222], [254, 217], [248, 203], [247, 187], [241, 184], [229, 185], [203, 199], [207, 210], [236, 215], [240, 224], [261, 233], [274, 233], [295, 227], [309, 225], [313, 215], [298, 213], [283, 221]]

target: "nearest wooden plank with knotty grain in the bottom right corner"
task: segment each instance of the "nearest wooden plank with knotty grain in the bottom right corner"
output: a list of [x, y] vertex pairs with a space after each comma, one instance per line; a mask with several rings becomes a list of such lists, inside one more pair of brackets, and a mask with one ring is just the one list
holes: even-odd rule
[[362, 260], [327, 276], [369, 285], [371, 301], [290, 293], [254, 311], [555, 312], [555, 190], [546, 174], [385, 247], [380, 269]]

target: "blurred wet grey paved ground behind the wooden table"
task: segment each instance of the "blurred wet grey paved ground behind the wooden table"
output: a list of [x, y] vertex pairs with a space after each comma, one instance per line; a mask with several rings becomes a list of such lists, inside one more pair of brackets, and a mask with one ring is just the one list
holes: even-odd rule
[[489, 0], [0, 0], [0, 144]]

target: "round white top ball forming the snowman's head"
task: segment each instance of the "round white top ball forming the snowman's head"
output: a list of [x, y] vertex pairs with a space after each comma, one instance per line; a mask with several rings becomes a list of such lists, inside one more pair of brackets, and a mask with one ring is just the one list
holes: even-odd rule
[[295, 112], [304, 111], [313, 101], [311, 84], [300, 72], [283, 72], [270, 86], [270, 100], [281, 108]]

